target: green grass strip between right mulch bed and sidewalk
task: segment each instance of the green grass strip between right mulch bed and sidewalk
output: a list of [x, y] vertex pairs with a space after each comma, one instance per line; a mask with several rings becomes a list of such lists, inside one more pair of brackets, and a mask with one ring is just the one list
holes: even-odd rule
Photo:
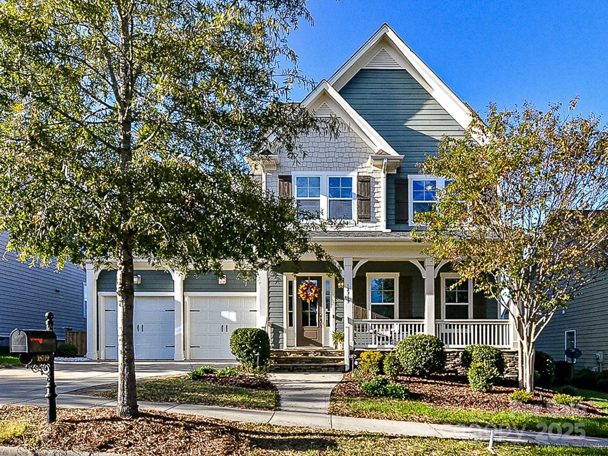
[[[548, 416], [533, 413], [489, 412], [447, 407], [435, 407], [425, 402], [401, 401], [389, 398], [333, 397], [330, 410], [337, 415], [364, 416], [385, 420], [423, 421], [436, 424], [474, 424], [486, 426], [508, 426], [510, 429], [546, 432], [552, 426], [553, 432], [559, 429], [584, 430], [590, 437], [608, 437], [608, 418], [583, 418], [579, 416]], [[546, 426], [544, 426], [544, 424]], [[572, 434], [579, 435], [572, 430]]]

